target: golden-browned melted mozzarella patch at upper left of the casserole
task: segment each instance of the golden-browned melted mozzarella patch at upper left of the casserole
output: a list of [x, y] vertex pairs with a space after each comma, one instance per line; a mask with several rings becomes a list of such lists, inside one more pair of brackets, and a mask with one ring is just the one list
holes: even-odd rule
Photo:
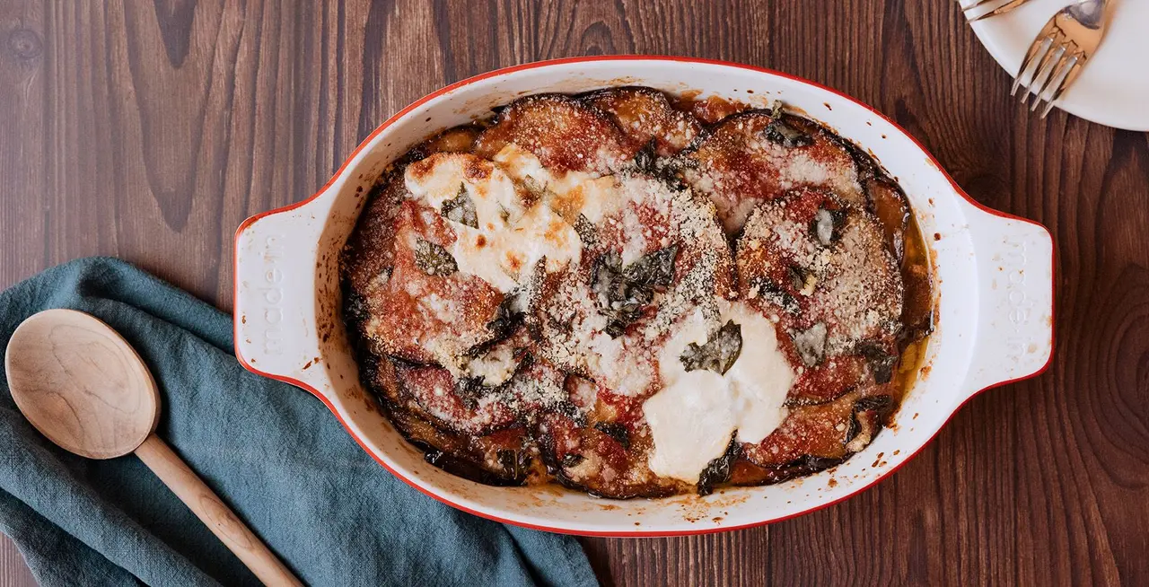
[[515, 180], [489, 161], [437, 153], [408, 167], [404, 181], [434, 209], [457, 198], [462, 186], [475, 204], [478, 227], [448, 221], [456, 235], [452, 256], [461, 272], [501, 292], [517, 287], [542, 257], [552, 272], [579, 260], [581, 242], [573, 226], [546, 202], [527, 207]]

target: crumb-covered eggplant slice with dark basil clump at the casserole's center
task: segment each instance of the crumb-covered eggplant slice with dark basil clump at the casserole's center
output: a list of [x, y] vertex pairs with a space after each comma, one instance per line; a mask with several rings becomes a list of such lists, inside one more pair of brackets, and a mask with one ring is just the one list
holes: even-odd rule
[[[643, 175], [591, 226], [593, 250], [548, 278], [529, 318], [538, 353], [623, 395], [648, 395], [665, 332], [700, 304], [727, 298], [733, 263], [708, 202]], [[589, 223], [589, 221], [588, 221]]]

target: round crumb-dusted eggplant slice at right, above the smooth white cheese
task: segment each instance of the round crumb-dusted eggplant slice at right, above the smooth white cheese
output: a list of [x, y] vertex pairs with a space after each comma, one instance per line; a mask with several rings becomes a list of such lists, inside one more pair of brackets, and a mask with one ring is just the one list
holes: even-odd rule
[[807, 368], [899, 334], [903, 284], [881, 225], [835, 194], [799, 188], [759, 204], [735, 256], [743, 298], [779, 316]]

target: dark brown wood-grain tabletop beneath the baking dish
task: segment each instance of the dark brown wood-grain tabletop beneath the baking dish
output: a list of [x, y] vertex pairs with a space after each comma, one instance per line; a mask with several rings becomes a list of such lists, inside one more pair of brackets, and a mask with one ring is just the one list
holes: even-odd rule
[[224, 309], [240, 221], [310, 195], [450, 82], [658, 53], [853, 94], [973, 198], [1054, 232], [1052, 368], [839, 505], [586, 540], [603, 582], [1149, 585], [1149, 136], [1039, 121], [949, 0], [3, 0], [0, 41], [0, 286], [116, 255]]

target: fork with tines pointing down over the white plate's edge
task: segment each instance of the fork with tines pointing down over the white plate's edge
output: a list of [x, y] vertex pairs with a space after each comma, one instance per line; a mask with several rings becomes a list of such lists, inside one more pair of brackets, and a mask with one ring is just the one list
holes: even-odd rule
[[[1021, 103], [1034, 95], [1030, 111], [1035, 111], [1046, 100], [1041, 111], [1044, 118], [1065, 88], [1073, 84], [1081, 68], [1101, 45], [1105, 32], [1106, 0], [1079, 0], [1054, 15], [1038, 33], [1013, 79], [1010, 95], [1017, 95], [1025, 85]], [[1028, 83], [1024, 80], [1028, 75]]]

